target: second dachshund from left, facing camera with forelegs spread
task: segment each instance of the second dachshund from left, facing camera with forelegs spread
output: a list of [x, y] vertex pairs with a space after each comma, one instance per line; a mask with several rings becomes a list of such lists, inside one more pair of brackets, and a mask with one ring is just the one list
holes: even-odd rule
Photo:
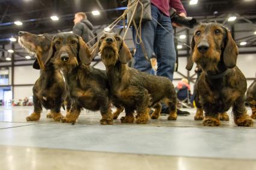
[[70, 114], [64, 123], [75, 123], [81, 109], [100, 111], [101, 124], [113, 124], [111, 101], [105, 71], [89, 66], [90, 51], [83, 39], [76, 34], [63, 32], [52, 38], [48, 60], [63, 71], [70, 97], [73, 99]]

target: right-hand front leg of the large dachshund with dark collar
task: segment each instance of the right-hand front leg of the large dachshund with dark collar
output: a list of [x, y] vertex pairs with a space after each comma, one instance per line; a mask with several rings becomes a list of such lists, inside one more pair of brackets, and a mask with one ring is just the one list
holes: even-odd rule
[[245, 96], [240, 96], [237, 98], [233, 105], [233, 114], [234, 114], [234, 121], [237, 126], [253, 126], [252, 118], [246, 114], [245, 109]]

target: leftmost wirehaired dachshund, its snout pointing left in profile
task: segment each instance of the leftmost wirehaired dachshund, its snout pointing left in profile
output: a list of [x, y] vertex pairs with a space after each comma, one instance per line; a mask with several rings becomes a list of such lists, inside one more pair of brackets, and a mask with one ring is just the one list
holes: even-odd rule
[[[29, 32], [19, 32], [19, 44], [28, 52], [37, 55], [33, 67], [41, 70], [40, 77], [33, 87], [34, 112], [27, 117], [27, 121], [38, 121], [42, 106], [51, 110], [47, 115], [48, 118], [60, 121], [63, 117], [60, 109], [67, 98], [67, 86], [60, 70], [54, 68], [52, 61], [43, 63], [48, 58], [51, 40], [52, 37], [48, 34], [35, 35]], [[67, 114], [69, 110], [70, 101], [67, 102]]]

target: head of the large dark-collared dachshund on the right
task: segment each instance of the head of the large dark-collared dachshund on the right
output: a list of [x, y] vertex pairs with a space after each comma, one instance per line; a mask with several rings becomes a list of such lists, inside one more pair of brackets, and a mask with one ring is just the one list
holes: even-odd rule
[[230, 31], [219, 23], [202, 23], [195, 30], [187, 70], [196, 62], [204, 71], [218, 70], [218, 66], [236, 66], [238, 49]]

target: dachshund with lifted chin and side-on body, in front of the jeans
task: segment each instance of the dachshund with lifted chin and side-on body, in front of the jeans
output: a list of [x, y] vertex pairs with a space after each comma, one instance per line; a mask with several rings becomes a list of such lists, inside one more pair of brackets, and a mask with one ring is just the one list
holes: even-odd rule
[[176, 120], [176, 93], [172, 82], [166, 77], [143, 73], [126, 64], [131, 53], [118, 34], [105, 33], [93, 51], [101, 53], [107, 68], [108, 83], [114, 103], [125, 108], [122, 123], [134, 122], [134, 110], [137, 112], [136, 123], [146, 124], [149, 119], [149, 107], [154, 106], [152, 119], [157, 119], [161, 112], [160, 101], [169, 106], [168, 120]]

